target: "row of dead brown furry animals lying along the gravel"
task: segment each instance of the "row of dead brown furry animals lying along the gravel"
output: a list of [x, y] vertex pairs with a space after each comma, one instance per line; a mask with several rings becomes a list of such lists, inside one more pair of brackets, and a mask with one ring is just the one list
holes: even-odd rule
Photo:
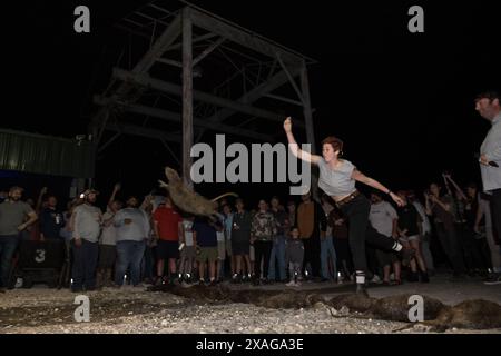
[[[342, 294], [326, 299], [322, 294], [306, 290], [230, 290], [224, 286], [206, 287], [195, 285], [181, 287], [179, 285], [163, 285], [150, 290], [168, 291], [186, 298], [200, 301], [245, 303], [265, 308], [307, 308], [323, 304], [336, 310], [346, 309], [348, 316], [356, 318], [373, 318], [392, 322], [410, 323], [409, 303], [411, 294], [371, 298], [357, 294]], [[446, 306], [435, 298], [423, 297], [423, 322], [412, 323], [397, 330], [422, 325], [430, 332], [444, 332], [449, 328], [490, 329], [501, 328], [501, 306], [483, 299], [466, 300], [455, 306]], [[334, 317], [338, 316], [331, 313]], [[395, 330], [396, 332], [396, 330]]]

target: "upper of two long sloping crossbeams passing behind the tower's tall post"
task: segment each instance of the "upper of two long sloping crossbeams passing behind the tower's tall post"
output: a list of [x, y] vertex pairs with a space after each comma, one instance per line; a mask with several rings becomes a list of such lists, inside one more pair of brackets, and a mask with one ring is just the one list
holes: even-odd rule
[[[130, 71], [126, 71], [124, 69], [115, 68], [112, 71], [112, 75], [114, 75], [114, 77], [116, 77], [120, 80], [135, 82], [139, 86], [149, 87], [155, 90], [174, 93], [174, 95], [178, 95], [178, 96], [181, 96], [184, 92], [183, 87], [180, 87], [178, 85], [166, 82], [166, 81], [158, 80], [158, 79], [154, 79], [154, 78], [150, 78], [145, 75], [139, 75], [139, 73], [135, 75], [135, 73], [132, 73]], [[255, 108], [255, 107], [252, 107], [252, 106], [248, 106], [248, 105], [245, 105], [242, 102], [228, 100], [225, 98], [219, 98], [217, 96], [214, 96], [214, 95], [210, 95], [207, 92], [194, 90], [193, 97], [194, 97], [194, 99], [196, 99], [198, 101], [204, 101], [204, 102], [212, 103], [214, 106], [228, 108], [234, 111], [244, 112], [244, 113], [252, 115], [252, 116], [257, 116], [263, 119], [268, 119], [268, 120], [281, 122], [281, 123], [284, 121], [283, 120], [284, 118], [275, 112]]]

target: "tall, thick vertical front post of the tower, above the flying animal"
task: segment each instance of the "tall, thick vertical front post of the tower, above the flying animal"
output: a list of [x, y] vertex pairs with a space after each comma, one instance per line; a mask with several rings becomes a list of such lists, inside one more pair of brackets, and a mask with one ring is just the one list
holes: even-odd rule
[[191, 156], [193, 146], [193, 26], [191, 9], [181, 10], [183, 16], [183, 180], [193, 188]]

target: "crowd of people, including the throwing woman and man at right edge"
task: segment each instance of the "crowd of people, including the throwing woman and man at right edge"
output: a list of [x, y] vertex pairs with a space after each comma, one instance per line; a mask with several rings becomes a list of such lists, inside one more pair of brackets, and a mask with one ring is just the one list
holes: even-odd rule
[[[324, 139], [322, 156], [302, 151], [289, 118], [284, 130], [291, 149], [318, 166], [324, 192], [320, 198], [304, 194], [298, 205], [293, 197], [286, 205], [275, 196], [255, 207], [222, 199], [217, 218], [207, 218], [179, 211], [167, 192], [141, 204], [134, 196], [120, 201], [116, 185], [105, 214], [92, 189], [62, 211], [47, 189], [35, 202], [22, 201], [23, 189], [12, 187], [0, 192], [0, 288], [12, 287], [20, 239], [63, 241], [73, 291], [223, 280], [296, 287], [316, 280], [354, 281], [357, 293], [366, 294], [370, 281], [429, 283], [441, 260], [455, 280], [481, 276], [485, 284], [500, 284], [499, 95], [483, 93], [475, 105], [492, 123], [479, 158], [481, 191], [475, 184], [461, 188], [444, 172], [443, 182], [430, 184], [422, 196], [393, 192], [342, 158], [338, 138]], [[356, 182], [372, 188], [370, 197]]]

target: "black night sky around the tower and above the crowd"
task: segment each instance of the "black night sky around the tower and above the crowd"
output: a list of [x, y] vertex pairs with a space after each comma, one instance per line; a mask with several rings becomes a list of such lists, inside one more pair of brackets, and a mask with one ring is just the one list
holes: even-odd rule
[[[12, 23], [2, 31], [4, 88], [12, 109], [0, 126], [66, 137], [85, 132], [96, 109], [91, 96], [109, 79], [102, 68], [117, 40], [112, 23], [146, 2], [6, 6]], [[345, 157], [363, 172], [393, 189], [424, 187], [443, 169], [463, 184], [479, 179], [473, 155], [489, 123], [473, 99], [501, 87], [495, 1], [194, 2], [318, 60], [310, 70], [317, 142], [338, 136]], [[78, 4], [90, 8], [90, 34], [73, 32]], [[424, 8], [424, 33], [407, 31], [412, 4]], [[167, 164], [161, 145], [120, 138], [97, 164], [96, 184], [106, 190], [120, 179], [143, 194]], [[229, 189], [200, 188], [209, 196]], [[265, 197], [285, 191], [257, 188]]]

